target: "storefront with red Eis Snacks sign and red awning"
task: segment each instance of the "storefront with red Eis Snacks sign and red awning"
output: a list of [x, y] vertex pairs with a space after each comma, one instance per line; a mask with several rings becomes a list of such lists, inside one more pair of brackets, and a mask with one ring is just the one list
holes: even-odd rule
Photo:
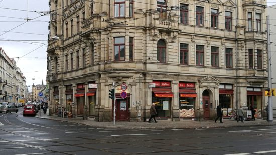
[[194, 118], [195, 103], [196, 103], [196, 88], [195, 83], [179, 82], [179, 117]]

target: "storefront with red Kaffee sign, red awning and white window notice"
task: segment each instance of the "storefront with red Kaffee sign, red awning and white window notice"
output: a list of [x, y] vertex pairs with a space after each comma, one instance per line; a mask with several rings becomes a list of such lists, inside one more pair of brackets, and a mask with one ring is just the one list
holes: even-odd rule
[[171, 81], [153, 81], [155, 88], [152, 88], [152, 101], [155, 103], [157, 118], [172, 117], [172, 98], [174, 93], [171, 88]]

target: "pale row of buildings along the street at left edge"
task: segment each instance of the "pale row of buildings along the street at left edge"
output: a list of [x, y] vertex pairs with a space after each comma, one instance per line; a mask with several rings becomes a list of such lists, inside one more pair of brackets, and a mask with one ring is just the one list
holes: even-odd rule
[[16, 66], [16, 61], [9, 58], [2, 48], [0, 48], [0, 80], [0, 101], [10, 103], [26, 101], [28, 90], [26, 78]]

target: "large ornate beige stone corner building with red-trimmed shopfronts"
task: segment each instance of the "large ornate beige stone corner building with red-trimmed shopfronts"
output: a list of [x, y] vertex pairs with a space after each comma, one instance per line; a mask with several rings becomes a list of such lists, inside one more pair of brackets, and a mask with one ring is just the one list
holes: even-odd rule
[[73, 118], [112, 121], [115, 88], [116, 120], [146, 121], [152, 103], [168, 121], [213, 120], [219, 103], [224, 117], [240, 105], [263, 117], [264, 1], [49, 4], [50, 115], [65, 107]]

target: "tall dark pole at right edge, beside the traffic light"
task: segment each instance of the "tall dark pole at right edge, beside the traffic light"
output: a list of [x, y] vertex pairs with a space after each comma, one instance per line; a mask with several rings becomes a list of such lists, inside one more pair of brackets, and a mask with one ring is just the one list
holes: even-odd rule
[[[268, 53], [268, 88], [272, 90], [272, 78], [271, 78], [271, 49], [270, 49], [270, 22], [269, 16], [266, 16], [267, 25], [267, 53]], [[273, 106], [272, 106], [272, 94], [268, 96], [268, 122], [273, 122]]]

